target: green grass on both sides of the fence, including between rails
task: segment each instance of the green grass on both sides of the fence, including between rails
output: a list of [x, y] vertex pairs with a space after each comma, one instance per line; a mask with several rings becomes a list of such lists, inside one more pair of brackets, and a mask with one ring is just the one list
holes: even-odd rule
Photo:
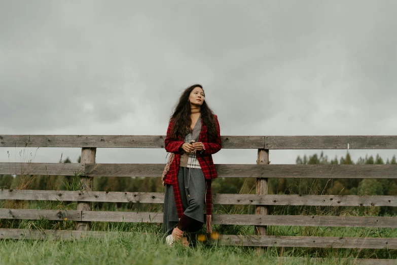
[[[1, 227], [31, 229], [74, 229], [74, 221], [2, 220]], [[161, 224], [93, 222], [93, 230], [127, 231], [102, 239], [62, 241], [1, 240], [1, 264], [353, 264], [354, 258], [395, 259], [395, 250], [268, 248], [222, 246], [216, 241], [197, 241], [184, 249], [164, 244]], [[252, 234], [251, 226], [214, 225], [222, 234]], [[269, 226], [269, 235], [397, 237], [391, 228]], [[290, 257], [282, 259], [279, 257]], [[321, 257], [311, 262], [296, 258]], [[348, 258], [350, 261], [341, 261]]]

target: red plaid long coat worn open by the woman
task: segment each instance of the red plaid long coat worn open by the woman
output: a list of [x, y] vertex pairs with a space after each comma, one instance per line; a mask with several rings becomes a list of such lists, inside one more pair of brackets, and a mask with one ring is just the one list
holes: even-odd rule
[[[206, 213], [207, 213], [207, 231], [212, 230], [209, 225], [211, 222], [211, 213], [212, 213], [212, 198], [211, 198], [211, 180], [218, 177], [216, 175], [215, 166], [212, 161], [212, 154], [221, 150], [221, 130], [219, 127], [218, 117], [215, 116], [215, 123], [216, 123], [216, 131], [217, 136], [215, 140], [209, 142], [208, 139], [208, 130], [207, 126], [203, 123], [201, 119], [202, 126], [201, 132], [198, 139], [198, 142], [203, 143], [205, 150], [203, 152], [197, 152], [197, 160], [200, 163], [201, 170], [203, 171], [205, 180], [206, 180], [206, 194], [205, 194], [205, 203], [206, 203]], [[171, 138], [171, 130], [173, 127], [172, 120], [169, 122], [168, 129], [167, 129], [167, 137], [165, 138], [165, 150], [170, 153], [174, 153], [175, 157], [170, 165], [168, 174], [165, 177], [164, 183], [170, 184], [173, 187], [174, 196], [175, 196], [175, 203], [176, 203], [176, 210], [178, 212], [179, 218], [182, 217], [184, 212], [182, 200], [181, 200], [181, 193], [179, 192], [178, 187], [178, 171], [179, 171], [179, 162], [181, 161], [181, 154], [184, 153], [184, 150], [181, 146], [184, 144], [183, 137], [179, 137], [179, 139]], [[181, 149], [179, 149], [181, 148]]]

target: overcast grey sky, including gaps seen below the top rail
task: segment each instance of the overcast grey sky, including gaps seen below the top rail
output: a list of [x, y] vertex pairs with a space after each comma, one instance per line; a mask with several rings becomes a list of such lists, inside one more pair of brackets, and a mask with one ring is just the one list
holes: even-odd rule
[[[222, 135], [396, 135], [396, 11], [394, 0], [0, 0], [0, 134], [165, 135], [183, 89], [200, 83]], [[0, 148], [0, 162], [80, 152]], [[270, 160], [314, 152], [271, 151]], [[397, 153], [349, 152], [354, 161]], [[96, 161], [165, 155], [98, 149]]]

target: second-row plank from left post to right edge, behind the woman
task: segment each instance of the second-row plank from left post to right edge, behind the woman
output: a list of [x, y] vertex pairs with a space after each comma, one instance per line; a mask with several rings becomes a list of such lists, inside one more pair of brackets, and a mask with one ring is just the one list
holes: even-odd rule
[[[164, 164], [86, 164], [88, 176], [159, 177]], [[397, 178], [395, 164], [215, 164], [219, 178]]]

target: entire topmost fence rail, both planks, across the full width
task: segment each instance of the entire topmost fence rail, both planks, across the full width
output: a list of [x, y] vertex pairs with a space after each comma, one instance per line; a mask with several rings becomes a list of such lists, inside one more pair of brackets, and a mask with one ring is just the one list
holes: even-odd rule
[[[0, 135], [0, 147], [164, 148], [165, 136]], [[397, 149], [397, 136], [222, 136], [229, 149]]]

